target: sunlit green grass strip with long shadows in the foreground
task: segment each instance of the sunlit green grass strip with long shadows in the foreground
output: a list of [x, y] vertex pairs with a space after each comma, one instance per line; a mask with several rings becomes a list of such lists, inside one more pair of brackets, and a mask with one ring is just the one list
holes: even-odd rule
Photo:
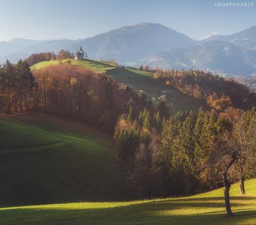
[[78, 202], [0, 208], [0, 224], [256, 224], [256, 179], [246, 196], [231, 187], [234, 217], [226, 217], [223, 189], [196, 196], [135, 202]]

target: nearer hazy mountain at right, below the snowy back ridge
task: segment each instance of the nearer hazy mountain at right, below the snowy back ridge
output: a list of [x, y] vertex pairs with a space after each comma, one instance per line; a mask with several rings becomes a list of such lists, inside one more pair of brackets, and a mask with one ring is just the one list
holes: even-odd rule
[[146, 58], [160, 68], [199, 69], [217, 74], [253, 74], [256, 51], [246, 50], [221, 40], [212, 40], [182, 49], [168, 49]]

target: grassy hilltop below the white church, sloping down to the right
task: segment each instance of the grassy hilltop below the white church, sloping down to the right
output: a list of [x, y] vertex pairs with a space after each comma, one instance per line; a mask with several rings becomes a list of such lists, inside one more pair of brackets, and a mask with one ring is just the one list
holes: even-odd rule
[[72, 64], [90, 68], [97, 73], [106, 73], [109, 77], [119, 81], [123, 86], [130, 86], [137, 92], [145, 92], [154, 104], [159, 102], [161, 95], [166, 95], [166, 103], [170, 107], [171, 113], [181, 110], [193, 110], [195, 113], [203, 104], [179, 92], [172, 86], [167, 86], [160, 80], [153, 78], [153, 73], [126, 68], [117, 68], [105, 62], [90, 59], [74, 60], [65, 59], [61, 61], [39, 62], [31, 67], [32, 70], [47, 67], [49, 65]]

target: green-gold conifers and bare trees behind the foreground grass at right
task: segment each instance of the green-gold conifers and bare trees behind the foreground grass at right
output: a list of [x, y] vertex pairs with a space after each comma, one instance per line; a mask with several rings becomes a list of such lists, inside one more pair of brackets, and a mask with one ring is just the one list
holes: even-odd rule
[[243, 194], [245, 178], [256, 172], [256, 110], [166, 116], [160, 109], [136, 115], [130, 107], [115, 127], [117, 156], [139, 196], [181, 196], [224, 186], [232, 214], [230, 184], [240, 181]]

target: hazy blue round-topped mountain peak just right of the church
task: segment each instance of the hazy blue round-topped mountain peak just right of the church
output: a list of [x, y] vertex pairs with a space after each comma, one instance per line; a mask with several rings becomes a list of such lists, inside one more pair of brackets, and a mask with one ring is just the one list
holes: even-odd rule
[[140, 23], [98, 34], [81, 41], [96, 59], [116, 58], [120, 63], [145, 58], [164, 49], [186, 47], [196, 42], [177, 31], [153, 23]]

